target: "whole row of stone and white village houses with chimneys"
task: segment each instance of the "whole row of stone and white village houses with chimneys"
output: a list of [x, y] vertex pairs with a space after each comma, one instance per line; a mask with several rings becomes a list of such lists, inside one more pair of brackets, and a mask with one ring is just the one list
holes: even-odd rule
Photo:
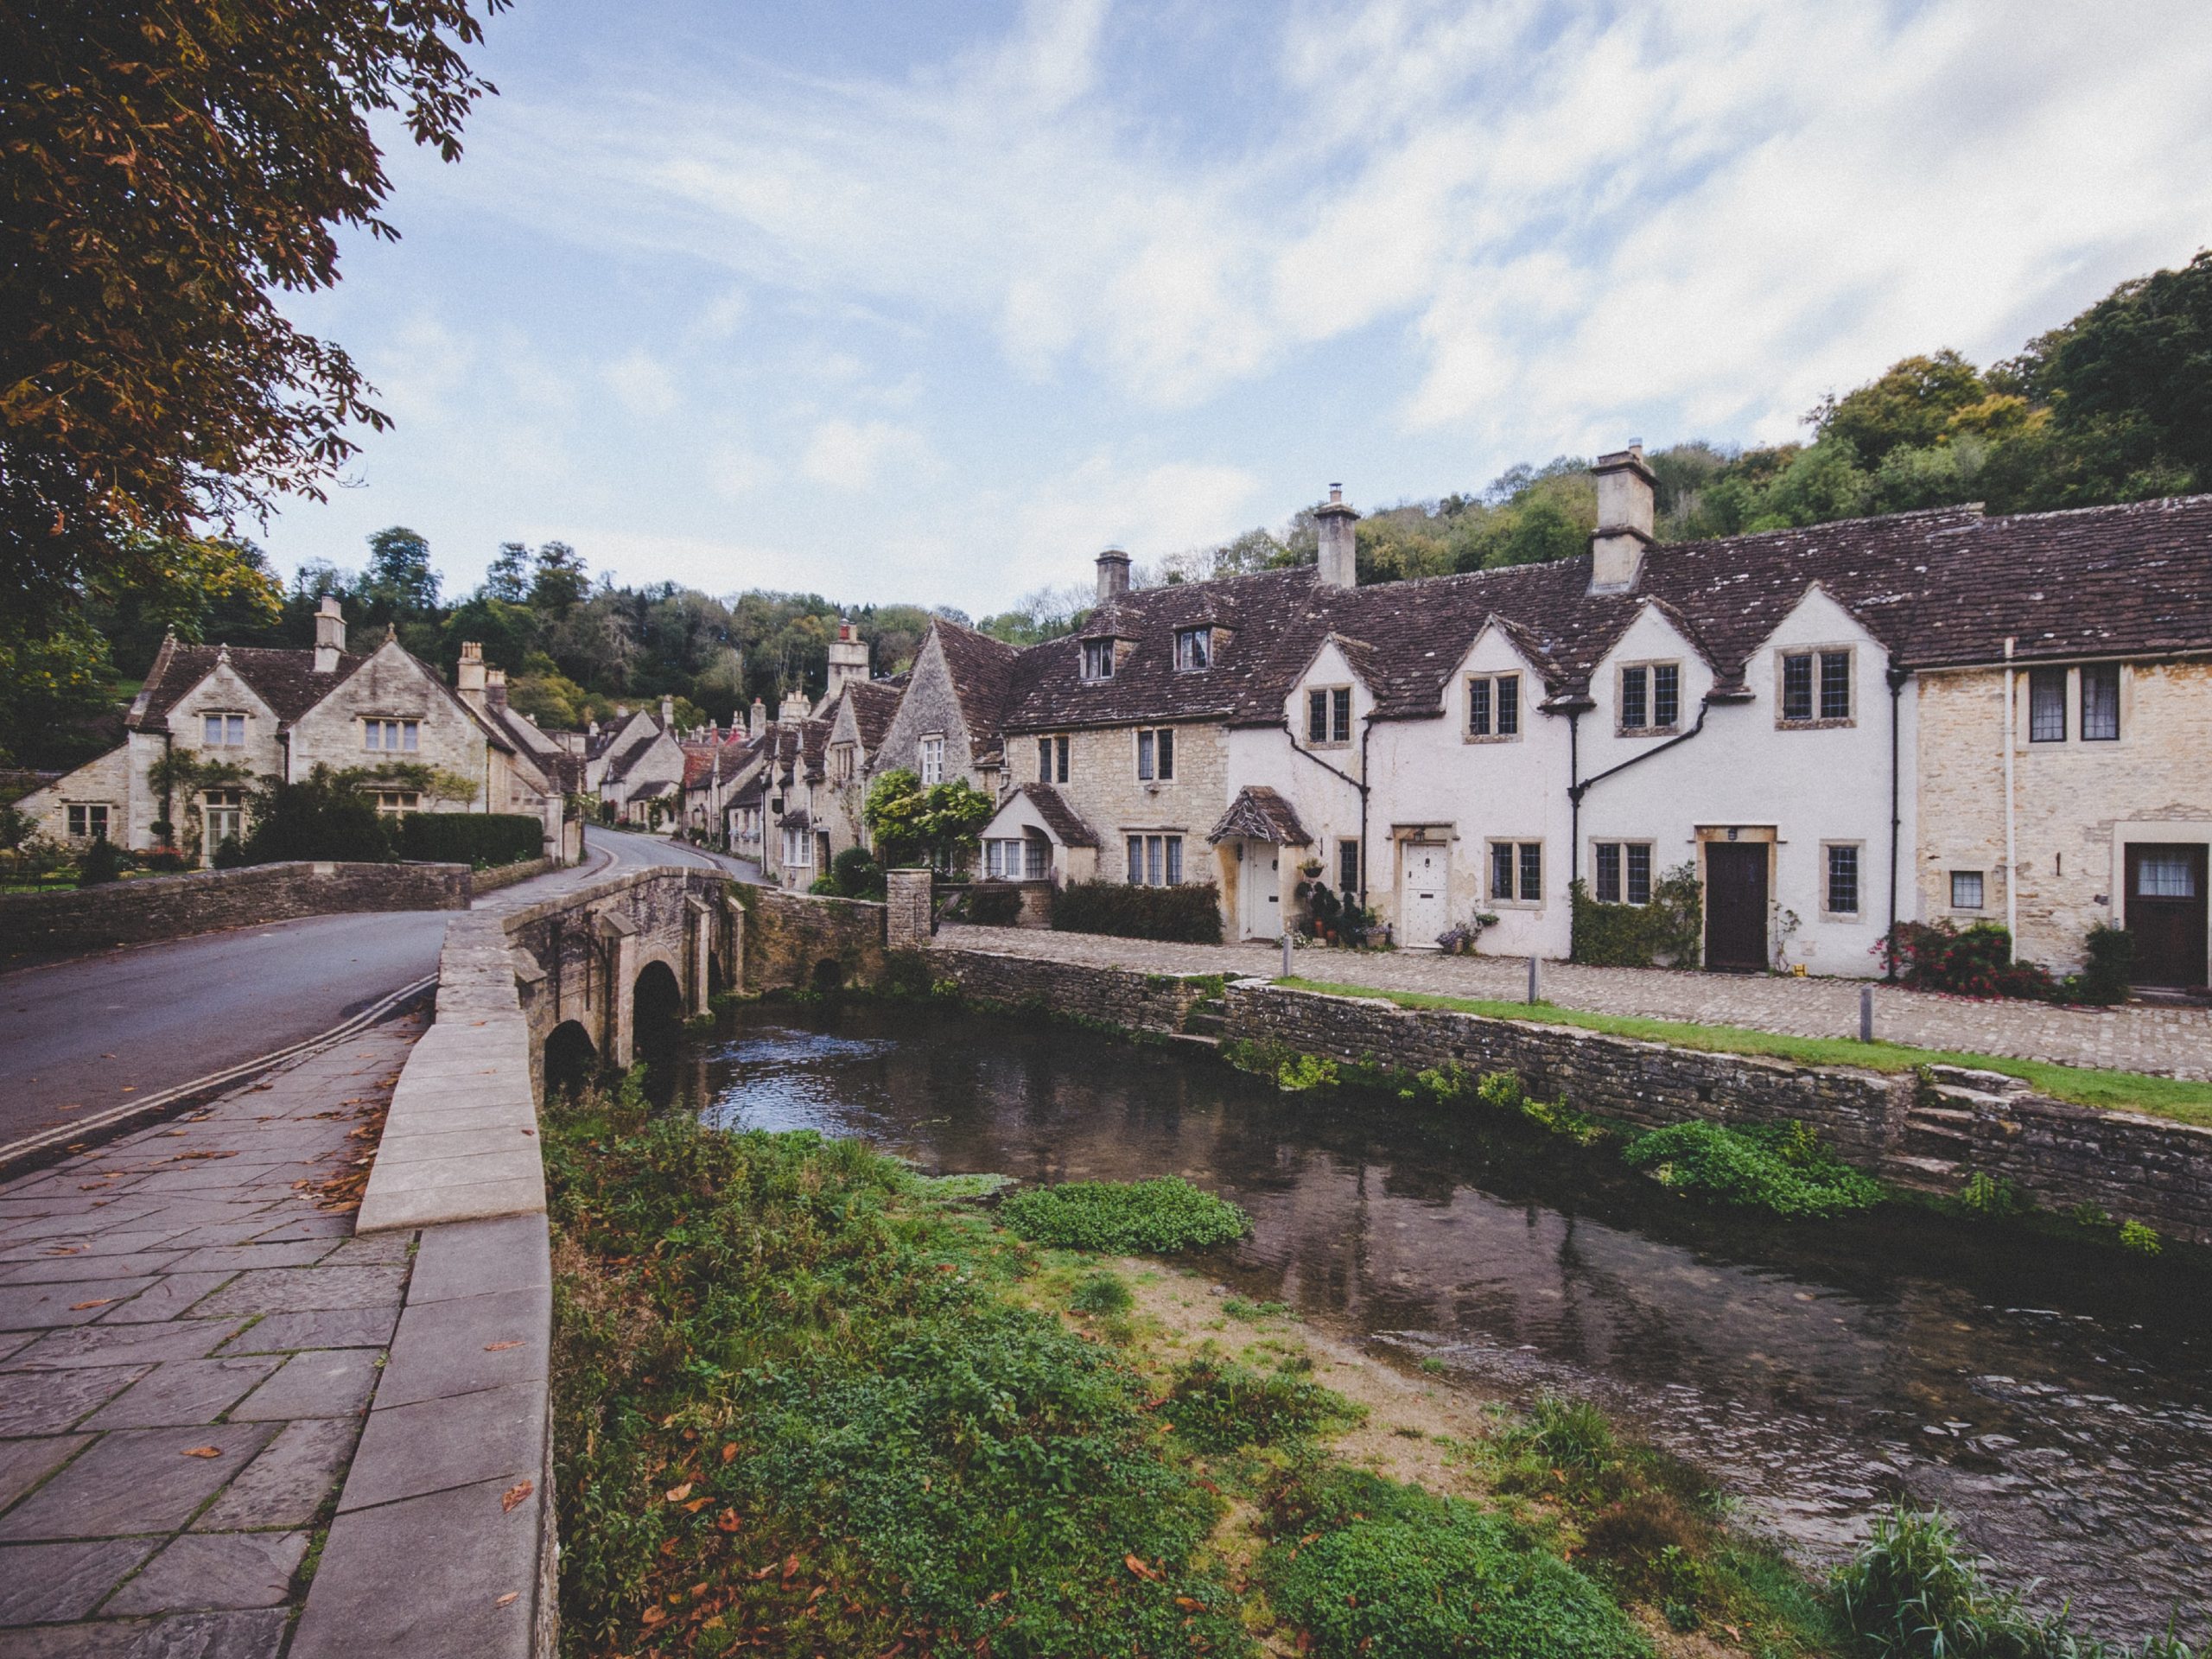
[[24, 805], [212, 847], [237, 796], [166, 799], [177, 748], [420, 759], [480, 790], [387, 807], [538, 812], [551, 845], [593, 792], [805, 887], [905, 768], [998, 803], [975, 874], [1031, 918], [1053, 883], [1212, 883], [1228, 938], [1272, 940], [1318, 880], [1402, 947], [1495, 918], [1484, 953], [1564, 958], [1571, 883], [1639, 905], [1688, 865], [1708, 967], [1878, 973], [1893, 920], [1949, 918], [2059, 969], [2126, 925], [2143, 982], [2212, 980], [2212, 498], [1666, 544], [1641, 449], [1595, 473], [1577, 560], [1363, 588], [1332, 487], [1314, 566], [1133, 591], [1108, 549], [1066, 639], [940, 619], [872, 679], [843, 626], [821, 699], [688, 741], [666, 703], [540, 732], [473, 650], [447, 690], [394, 639], [347, 655], [325, 604], [314, 653], [164, 646], [124, 748]]

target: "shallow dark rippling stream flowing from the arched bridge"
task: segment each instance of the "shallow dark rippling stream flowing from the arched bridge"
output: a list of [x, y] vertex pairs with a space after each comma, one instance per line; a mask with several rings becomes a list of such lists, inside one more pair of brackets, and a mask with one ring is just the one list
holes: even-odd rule
[[1907, 1493], [2090, 1628], [2205, 1630], [2212, 1298], [2179, 1265], [1916, 1210], [1721, 1214], [1469, 1113], [898, 1006], [737, 1009], [655, 1093], [927, 1170], [1183, 1175], [1252, 1212], [1201, 1263], [1221, 1283], [1484, 1396], [1590, 1396], [1812, 1562]]

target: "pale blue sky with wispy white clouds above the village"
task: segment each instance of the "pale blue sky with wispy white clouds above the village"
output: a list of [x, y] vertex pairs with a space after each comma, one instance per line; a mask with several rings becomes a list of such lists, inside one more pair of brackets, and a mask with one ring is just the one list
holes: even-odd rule
[[281, 571], [984, 615], [1329, 482], [1798, 438], [2212, 243], [2203, 0], [520, 0], [473, 62], [288, 303], [394, 429]]

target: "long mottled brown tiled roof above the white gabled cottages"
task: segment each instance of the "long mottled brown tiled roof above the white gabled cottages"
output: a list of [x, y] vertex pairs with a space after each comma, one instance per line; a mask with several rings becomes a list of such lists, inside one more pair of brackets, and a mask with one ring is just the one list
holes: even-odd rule
[[[1115, 675], [1082, 679], [1079, 639], [1020, 653], [1006, 730], [1146, 719], [1274, 723], [1327, 635], [1385, 719], [1440, 708], [1484, 622], [1577, 697], [1637, 613], [1666, 613], [1723, 688], [1818, 584], [1911, 668], [2212, 648], [2212, 495], [1989, 518], [1973, 507], [1657, 544], [1635, 593], [1588, 591], [1590, 560], [1329, 588], [1310, 566], [1121, 595], [1086, 633], [1130, 639]], [[1232, 630], [1203, 670], [1175, 633]]]

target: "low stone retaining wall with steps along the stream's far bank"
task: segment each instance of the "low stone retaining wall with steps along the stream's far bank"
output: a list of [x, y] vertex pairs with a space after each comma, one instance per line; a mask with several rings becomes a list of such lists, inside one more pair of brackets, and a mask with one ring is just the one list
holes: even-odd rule
[[[1212, 980], [931, 949], [931, 973], [978, 1004], [1181, 1033]], [[2090, 1203], [2170, 1239], [2212, 1245], [2212, 1128], [2037, 1095], [2000, 1073], [1880, 1073], [1674, 1048], [1537, 1020], [1402, 1009], [1383, 998], [1230, 980], [1223, 1040], [1349, 1064], [1511, 1071], [1537, 1095], [1639, 1128], [1688, 1119], [1803, 1121], [1836, 1152], [1902, 1188], [1955, 1194], [1971, 1175], [2011, 1181], [2051, 1210]]]

